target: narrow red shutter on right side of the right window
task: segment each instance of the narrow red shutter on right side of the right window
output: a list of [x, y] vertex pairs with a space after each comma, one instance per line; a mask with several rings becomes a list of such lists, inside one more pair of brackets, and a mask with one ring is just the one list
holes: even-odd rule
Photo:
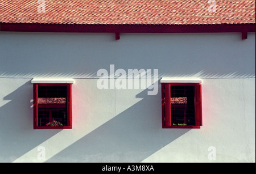
[[196, 126], [202, 126], [202, 92], [201, 84], [195, 86], [195, 115], [196, 115]]

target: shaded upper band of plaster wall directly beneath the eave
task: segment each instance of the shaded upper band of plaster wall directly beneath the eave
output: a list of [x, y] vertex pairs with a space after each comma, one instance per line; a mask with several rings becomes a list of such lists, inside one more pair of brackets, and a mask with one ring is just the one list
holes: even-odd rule
[[[0, 77], [94, 78], [99, 69], [158, 69], [160, 77], [255, 77], [255, 33], [1, 32]], [[56, 66], [58, 65], [58, 66]]]

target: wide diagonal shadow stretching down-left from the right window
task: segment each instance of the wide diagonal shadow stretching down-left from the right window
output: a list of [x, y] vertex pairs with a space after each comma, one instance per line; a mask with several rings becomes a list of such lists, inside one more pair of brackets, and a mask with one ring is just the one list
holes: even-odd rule
[[136, 97], [143, 99], [46, 162], [141, 162], [190, 130], [162, 129], [160, 92]]

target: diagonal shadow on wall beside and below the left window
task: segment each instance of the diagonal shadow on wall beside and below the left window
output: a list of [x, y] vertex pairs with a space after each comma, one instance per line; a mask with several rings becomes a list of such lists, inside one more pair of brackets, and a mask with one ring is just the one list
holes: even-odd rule
[[30, 80], [22, 83], [3, 97], [10, 101], [0, 107], [0, 162], [13, 162], [60, 131], [33, 129], [32, 84]]

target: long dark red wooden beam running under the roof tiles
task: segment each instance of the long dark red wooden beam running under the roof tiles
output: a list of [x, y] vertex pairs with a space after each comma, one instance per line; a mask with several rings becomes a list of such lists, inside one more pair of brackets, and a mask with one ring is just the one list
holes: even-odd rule
[[13, 32], [100, 32], [100, 33], [212, 33], [255, 32], [254, 24], [202, 25], [88, 25], [88, 24], [35, 24], [1, 23], [0, 31]]

